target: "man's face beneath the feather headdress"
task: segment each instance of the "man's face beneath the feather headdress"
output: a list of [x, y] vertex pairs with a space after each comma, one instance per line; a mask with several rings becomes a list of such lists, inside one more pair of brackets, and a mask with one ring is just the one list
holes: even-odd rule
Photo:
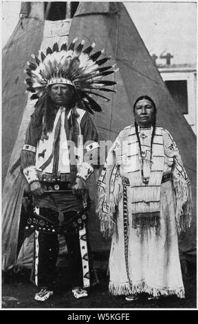
[[50, 98], [56, 105], [69, 105], [73, 96], [72, 85], [53, 84], [50, 88]]

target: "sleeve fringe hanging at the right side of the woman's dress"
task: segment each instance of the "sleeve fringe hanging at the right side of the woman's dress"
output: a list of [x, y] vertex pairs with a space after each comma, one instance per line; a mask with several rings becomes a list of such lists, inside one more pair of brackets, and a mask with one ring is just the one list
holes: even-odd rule
[[190, 227], [192, 211], [192, 192], [184, 179], [173, 174], [173, 186], [176, 196], [176, 223], [180, 234]]

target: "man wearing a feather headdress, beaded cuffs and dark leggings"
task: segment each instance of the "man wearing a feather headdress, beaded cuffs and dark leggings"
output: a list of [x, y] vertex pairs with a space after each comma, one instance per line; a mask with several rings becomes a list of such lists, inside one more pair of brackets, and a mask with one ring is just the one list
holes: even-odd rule
[[36, 64], [29, 63], [26, 70], [28, 91], [34, 93], [32, 99], [38, 99], [21, 153], [34, 206], [25, 228], [35, 230], [34, 282], [41, 288], [36, 301], [45, 301], [54, 293], [58, 231], [67, 243], [74, 296], [87, 296], [86, 288], [93, 281], [86, 181], [98, 168], [99, 145], [88, 111], [101, 110], [91, 90], [105, 90], [104, 85], [115, 82], [98, 82], [105, 70], [100, 65], [107, 58], [96, 61], [101, 52], [90, 54], [95, 44], [82, 51], [84, 42], [76, 49], [75, 42], [68, 49], [63, 44], [60, 51], [55, 43], [53, 49], [47, 48], [46, 57], [41, 52], [41, 60], [34, 57]]

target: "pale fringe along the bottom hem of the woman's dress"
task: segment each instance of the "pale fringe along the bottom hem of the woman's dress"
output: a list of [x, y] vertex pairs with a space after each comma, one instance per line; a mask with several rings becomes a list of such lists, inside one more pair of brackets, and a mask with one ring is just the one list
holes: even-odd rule
[[109, 283], [109, 292], [116, 295], [127, 294], [140, 294], [142, 292], [150, 294], [154, 297], [157, 296], [170, 296], [176, 295], [178, 298], [185, 298], [184, 287], [153, 287], [148, 285], [145, 281], [139, 281], [138, 283]]

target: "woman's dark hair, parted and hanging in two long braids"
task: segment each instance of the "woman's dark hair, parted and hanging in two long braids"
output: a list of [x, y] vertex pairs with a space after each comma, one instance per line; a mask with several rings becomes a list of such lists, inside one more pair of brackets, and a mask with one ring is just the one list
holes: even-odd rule
[[[154, 139], [154, 136], [155, 136], [157, 108], [156, 108], [156, 105], [155, 105], [155, 102], [153, 101], [153, 99], [151, 99], [148, 96], [140, 96], [140, 97], [137, 98], [137, 100], [135, 100], [135, 103], [133, 105], [133, 114], [135, 114], [135, 105], [137, 104], [138, 101], [140, 101], [142, 99], [146, 99], [146, 100], [150, 101], [152, 103], [152, 105], [153, 105], [153, 108], [154, 108], [154, 117], [153, 117], [153, 123], [152, 123], [153, 132], [151, 134], [151, 159], [150, 159], [150, 161], [152, 161], [152, 156], [153, 156], [153, 139]], [[137, 125], [137, 122], [136, 121], [135, 121], [135, 134], [137, 136], [137, 142], [138, 142], [139, 149], [140, 149], [140, 156], [142, 156], [142, 148], [141, 148], [141, 143], [140, 143], [140, 136], [139, 136], [138, 125]]]

